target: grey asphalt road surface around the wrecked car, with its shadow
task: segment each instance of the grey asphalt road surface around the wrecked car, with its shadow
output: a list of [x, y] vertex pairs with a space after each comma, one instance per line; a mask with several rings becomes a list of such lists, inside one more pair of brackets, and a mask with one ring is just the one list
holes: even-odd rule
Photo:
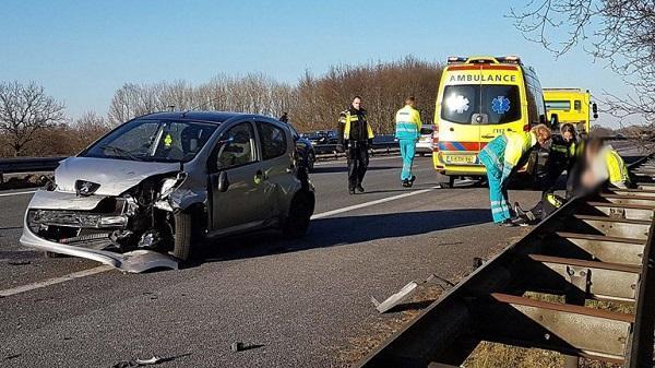
[[[172, 358], [160, 367], [343, 366], [354, 340], [397, 317], [379, 317], [371, 296], [431, 273], [456, 280], [474, 257], [524, 233], [490, 223], [485, 188], [436, 189], [429, 158], [417, 157], [412, 189], [400, 186], [400, 157], [373, 158], [367, 192], [348, 195], [344, 163], [319, 164], [318, 218], [302, 240], [273, 232], [216, 240], [191, 269], [111, 270], [0, 298], [0, 366], [111, 367], [153, 355]], [[0, 197], [0, 292], [98, 265], [22, 249], [29, 197]], [[235, 342], [251, 348], [234, 353]]]

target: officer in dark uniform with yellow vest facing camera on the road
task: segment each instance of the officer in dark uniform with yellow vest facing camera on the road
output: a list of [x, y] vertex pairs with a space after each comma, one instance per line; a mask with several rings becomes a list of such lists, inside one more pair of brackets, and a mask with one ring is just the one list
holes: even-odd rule
[[364, 192], [361, 181], [369, 163], [368, 149], [373, 141], [373, 130], [366, 119], [361, 97], [355, 96], [350, 107], [338, 117], [337, 150], [346, 151], [348, 159], [348, 192]]

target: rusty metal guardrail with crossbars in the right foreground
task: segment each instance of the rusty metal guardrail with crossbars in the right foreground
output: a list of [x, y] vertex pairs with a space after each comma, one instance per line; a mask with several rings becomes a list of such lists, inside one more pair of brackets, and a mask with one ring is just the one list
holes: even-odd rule
[[570, 201], [358, 366], [460, 366], [488, 341], [560, 352], [574, 367], [579, 357], [652, 367], [655, 161], [631, 171], [639, 189]]

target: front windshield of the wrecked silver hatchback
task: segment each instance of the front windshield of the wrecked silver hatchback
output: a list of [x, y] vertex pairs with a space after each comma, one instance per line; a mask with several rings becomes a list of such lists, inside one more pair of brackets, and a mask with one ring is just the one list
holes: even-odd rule
[[216, 127], [194, 121], [138, 119], [111, 131], [81, 156], [186, 163], [202, 150]]

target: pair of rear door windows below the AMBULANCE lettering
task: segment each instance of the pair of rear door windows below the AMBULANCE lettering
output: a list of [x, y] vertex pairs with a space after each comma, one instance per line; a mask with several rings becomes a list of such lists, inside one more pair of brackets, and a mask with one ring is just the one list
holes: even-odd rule
[[499, 124], [521, 119], [521, 98], [516, 85], [448, 85], [443, 91], [441, 119], [458, 123], [477, 123], [475, 115], [484, 115], [484, 123]]

